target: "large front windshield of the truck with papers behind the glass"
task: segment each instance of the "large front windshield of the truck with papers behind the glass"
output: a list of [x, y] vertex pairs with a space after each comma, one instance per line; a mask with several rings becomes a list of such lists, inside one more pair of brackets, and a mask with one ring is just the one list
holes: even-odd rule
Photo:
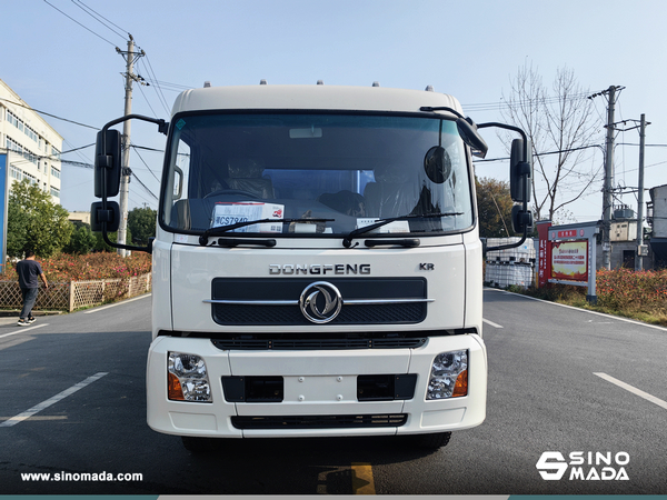
[[466, 152], [448, 120], [183, 114], [175, 117], [171, 136], [160, 222], [175, 232], [271, 219], [229, 232], [341, 237], [404, 216], [411, 217], [365, 237], [472, 226]]

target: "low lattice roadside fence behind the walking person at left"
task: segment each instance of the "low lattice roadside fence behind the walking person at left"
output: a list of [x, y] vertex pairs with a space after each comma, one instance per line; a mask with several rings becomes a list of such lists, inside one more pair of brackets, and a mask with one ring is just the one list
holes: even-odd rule
[[[40, 283], [34, 310], [69, 311], [129, 299], [151, 290], [150, 273], [130, 278], [49, 283], [44, 291]], [[0, 309], [21, 309], [23, 300], [19, 283], [0, 281]]]

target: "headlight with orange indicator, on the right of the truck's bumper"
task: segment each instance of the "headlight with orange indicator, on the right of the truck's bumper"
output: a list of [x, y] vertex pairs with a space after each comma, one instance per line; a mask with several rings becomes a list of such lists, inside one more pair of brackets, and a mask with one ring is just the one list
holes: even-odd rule
[[426, 399], [468, 396], [468, 351], [440, 352], [434, 359]]

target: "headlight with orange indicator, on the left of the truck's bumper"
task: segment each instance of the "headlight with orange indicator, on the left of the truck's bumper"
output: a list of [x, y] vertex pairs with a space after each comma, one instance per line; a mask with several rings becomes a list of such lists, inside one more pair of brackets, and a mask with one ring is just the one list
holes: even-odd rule
[[175, 401], [212, 402], [206, 363], [199, 356], [169, 352], [167, 393]]

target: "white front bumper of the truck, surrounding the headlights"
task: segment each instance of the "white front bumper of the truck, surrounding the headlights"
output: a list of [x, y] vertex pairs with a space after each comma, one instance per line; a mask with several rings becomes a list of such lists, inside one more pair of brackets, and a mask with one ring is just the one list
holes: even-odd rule
[[[468, 394], [427, 401], [434, 358], [440, 352], [464, 349], [469, 356]], [[212, 402], [168, 399], [167, 359], [170, 351], [197, 354], [205, 360]], [[417, 374], [414, 397], [359, 401], [357, 377], [384, 373]], [[223, 378], [270, 376], [282, 377], [280, 402], [226, 399]], [[468, 429], [484, 421], [487, 357], [484, 342], [476, 334], [434, 337], [418, 349], [312, 351], [220, 350], [209, 339], [158, 337], [149, 350], [147, 393], [148, 424], [169, 434], [241, 438], [446, 432]], [[247, 424], [259, 420], [272, 423]], [[289, 423], [295, 421], [310, 423]], [[262, 428], [267, 426], [270, 428]]]

